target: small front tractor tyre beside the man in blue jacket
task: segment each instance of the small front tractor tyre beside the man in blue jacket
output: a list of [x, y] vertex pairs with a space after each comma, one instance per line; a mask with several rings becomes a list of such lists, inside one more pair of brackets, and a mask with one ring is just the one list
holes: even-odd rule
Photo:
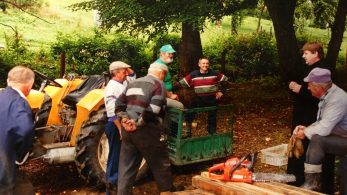
[[52, 99], [45, 94], [40, 110], [35, 113], [35, 128], [45, 127], [47, 125], [49, 113], [52, 108]]

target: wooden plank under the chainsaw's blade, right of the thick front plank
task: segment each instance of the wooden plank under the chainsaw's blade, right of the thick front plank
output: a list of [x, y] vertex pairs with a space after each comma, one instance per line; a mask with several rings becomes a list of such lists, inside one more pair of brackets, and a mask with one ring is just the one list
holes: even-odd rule
[[322, 193], [315, 192], [312, 190], [307, 190], [304, 188], [299, 188], [295, 186], [290, 186], [283, 183], [278, 182], [255, 182], [253, 185], [271, 189], [276, 192], [281, 192], [283, 194], [289, 194], [289, 195], [322, 195]]

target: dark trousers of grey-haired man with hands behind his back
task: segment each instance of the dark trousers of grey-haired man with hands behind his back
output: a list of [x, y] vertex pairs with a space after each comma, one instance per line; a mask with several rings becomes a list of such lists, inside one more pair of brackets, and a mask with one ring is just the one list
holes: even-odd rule
[[137, 127], [134, 132], [122, 130], [119, 160], [118, 195], [132, 194], [142, 157], [151, 169], [160, 192], [173, 189], [171, 164], [161, 128], [153, 123]]

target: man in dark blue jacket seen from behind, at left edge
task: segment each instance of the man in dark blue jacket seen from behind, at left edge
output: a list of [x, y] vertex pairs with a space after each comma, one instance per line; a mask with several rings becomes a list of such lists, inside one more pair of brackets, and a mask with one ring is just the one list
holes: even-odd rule
[[34, 194], [31, 183], [18, 165], [25, 161], [34, 140], [34, 122], [26, 96], [34, 72], [24, 66], [10, 70], [0, 91], [0, 194]]

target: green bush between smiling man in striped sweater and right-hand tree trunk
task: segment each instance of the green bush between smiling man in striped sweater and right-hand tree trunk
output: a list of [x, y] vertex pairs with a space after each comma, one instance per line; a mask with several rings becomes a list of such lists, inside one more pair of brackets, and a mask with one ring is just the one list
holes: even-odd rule
[[278, 75], [277, 49], [267, 33], [218, 37], [204, 47], [215, 68], [221, 67], [225, 54], [226, 74], [235, 80]]

